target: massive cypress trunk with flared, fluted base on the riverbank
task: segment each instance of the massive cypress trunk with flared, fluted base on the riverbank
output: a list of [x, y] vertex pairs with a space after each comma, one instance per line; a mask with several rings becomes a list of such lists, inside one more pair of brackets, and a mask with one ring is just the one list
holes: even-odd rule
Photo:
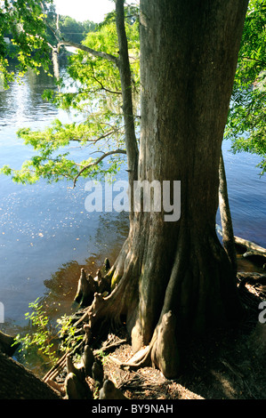
[[[186, 338], [242, 313], [236, 277], [215, 232], [223, 130], [247, 1], [141, 0], [140, 181], [181, 181], [181, 217], [133, 213], [95, 298], [92, 325], [125, 315], [133, 349], [166, 377]], [[144, 359], [143, 359], [144, 360]]]

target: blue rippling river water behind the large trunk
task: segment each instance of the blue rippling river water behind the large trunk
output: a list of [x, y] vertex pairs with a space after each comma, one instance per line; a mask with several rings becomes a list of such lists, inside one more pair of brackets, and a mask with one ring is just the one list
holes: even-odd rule
[[[20, 168], [31, 157], [32, 150], [16, 136], [20, 127], [44, 128], [55, 117], [70, 120], [67, 112], [42, 100], [47, 88], [54, 88], [51, 77], [29, 71], [24, 84], [0, 92], [0, 166]], [[78, 157], [81, 151], [75, 147]], [[235, 235], [266, 246], [266, 176], [261, 178], [255, 167], [259, 158], [233, 155], [226, 141], [223, 154]], [[64, 181], [23, 186], [2, 175], [0, 185], [0, 329], [15, 334], [25, 325], [28, 303], [37, 297], [52, 316], [69, 313], [80, 268], [95, 273], [106, 257], [115, 260], [128, 216], [86, 212], [85, 180], [71, 189]]]

